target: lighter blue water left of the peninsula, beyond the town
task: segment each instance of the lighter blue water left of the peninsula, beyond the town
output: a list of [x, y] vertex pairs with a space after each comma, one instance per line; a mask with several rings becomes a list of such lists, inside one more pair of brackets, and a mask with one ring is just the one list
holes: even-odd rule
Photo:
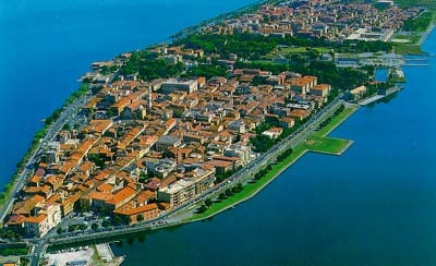
[[94, 61], [166, 40], [255, 0], [14, 0], [0, 3], [0, 188]]

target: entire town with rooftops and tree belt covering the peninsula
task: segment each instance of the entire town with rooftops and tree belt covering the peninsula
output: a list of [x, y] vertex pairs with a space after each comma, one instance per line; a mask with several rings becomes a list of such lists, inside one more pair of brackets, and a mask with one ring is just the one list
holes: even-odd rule
[[[330, 80], [316, 65], [338, 63], [331, 44], [391, 52], [386, 41], [424, 10], [343, 2], [263, 4], [93, 63], [86, 104], [40, 144], [4, 228], [40, 238], [76, 230], [63, 221], [81, 213], [95, 221], [82, 230], [154, 220], [227, 182], [339, 97], [372, 96], [374, 66], [334, 68]], [[250, 47], [257, 38], [269, 43]], [[295, 41], [304, 52], [292, 53]], [[292, 63], [303, 66], [277, 66]]]

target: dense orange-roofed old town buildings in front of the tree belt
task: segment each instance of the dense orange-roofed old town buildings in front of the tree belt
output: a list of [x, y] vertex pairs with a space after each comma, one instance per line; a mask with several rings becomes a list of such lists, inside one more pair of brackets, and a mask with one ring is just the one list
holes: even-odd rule
[[77, 208], [131, 223], [154, 219], [214, 186], [217, 174], [252, 161], [251, 130], [276, 121], [264, 134], [277, 137], [330, 92], [316, 76], [255, 69], [208, 81], [95, 86], [82, 109], [88, 122], [44, 145], [7, 227], [40, 237]]

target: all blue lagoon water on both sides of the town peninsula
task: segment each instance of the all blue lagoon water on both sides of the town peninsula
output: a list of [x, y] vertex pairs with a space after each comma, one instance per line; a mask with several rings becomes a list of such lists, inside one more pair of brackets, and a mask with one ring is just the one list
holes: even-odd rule
[[[90, 62], [251, 2], [1, 3], [0, 184]], [[424, 44], [431, 55], [435, 35]], [[123, 265], [435, 265], [435, 56], [429, 63], [404, 68], [402, 92], [331, 133], [355, 141], [342, 156], [307, 154], [237, 208], [124, 239], [113, 252]]]

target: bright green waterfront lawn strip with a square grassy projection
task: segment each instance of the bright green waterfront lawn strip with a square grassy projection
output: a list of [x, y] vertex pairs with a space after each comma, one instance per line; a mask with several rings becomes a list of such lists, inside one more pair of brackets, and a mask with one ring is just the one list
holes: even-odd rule
[[291, 166], [294, 161], [296, 161], [301, 156], [303, 156], [306, 152], [322, 152], [329, 154], [340, 154], [342, 153], [349, 145], [350, 141], [338, 140], [331, 137], [325, 137], [329, 132], [331, 132], [335, 128], [337, 128], [341, 122], [343, 122], [349, 116], [351, 116], [356, 110], [356, 107], [348, 107], [341, 113], [336, 116], [331, 121], [324, 126], [322, 130], [315, 132], [311, 137], [307, 138], [307, 142], [314, 141], [313, 145], [308, 145], [307, 142], [298, 145], [293, 148], [293, 152], [290, 156], [288, 156], [284, 160], [279, 164], [271, 165], [271, 170], [266, 173], [257, 182], [249, 182], [243, 186], [243, 190], [226, 200], [220, 202], [214, 202], [214, 204], [206, 209], [202, 214], [195, 214], [190, 218], [185, 219], [185, 222], [196, 221], [202, 219], [207, 219], [213, 217], [220, 211], [223, 211], [241, 202], [244, 202], [254, 195], [256, 195], [259, 191], [262, 191], [269, 182], [271, 182], [276, 177], [278, 177], [282, 171], [284, 171], [289, 166]]

